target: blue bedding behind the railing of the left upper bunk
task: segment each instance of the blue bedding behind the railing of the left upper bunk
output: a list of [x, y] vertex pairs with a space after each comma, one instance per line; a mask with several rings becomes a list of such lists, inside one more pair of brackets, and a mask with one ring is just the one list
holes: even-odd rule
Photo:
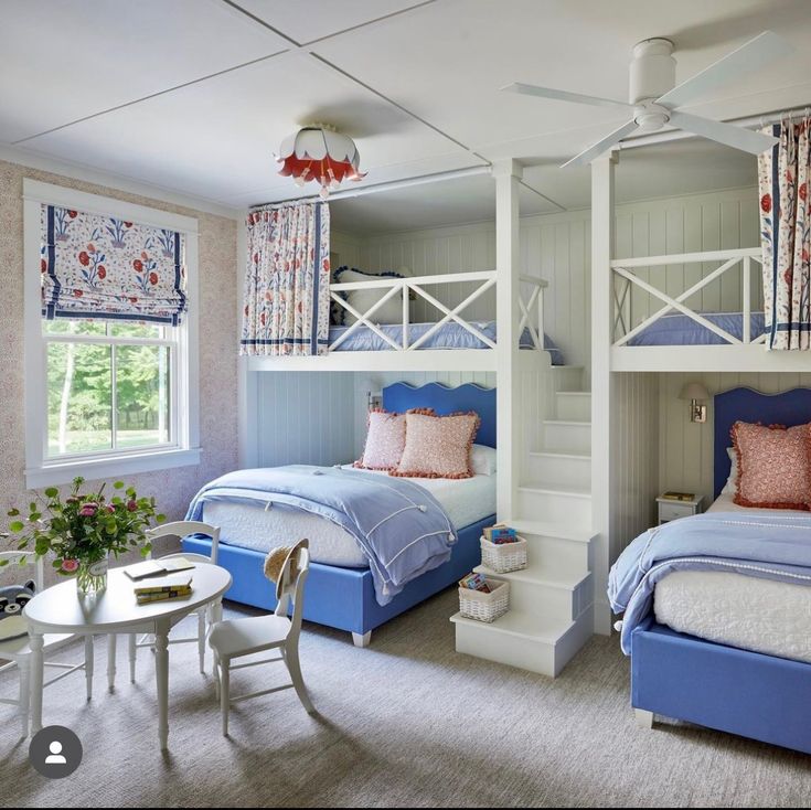
[[[421, 338], [434, 323], [412, 323], [408, 327], [408, 343], [415, 343]], [[495, 321], [470, 321], [470, 326], [476, 327], [483, 335], [495, 341]], [[330, 343], [338, 340], [350, 327], [330, 327]], [[388, 335], [395, 343], [402, 343], [403, 326], [401, 323], [383, 323], [380, 324], [381, 331]], [[525, 329], [521, 335], [520, 345], [522, 349], [533, 349], [532, 335], [530, 330]], [[434, 334], [420, 344], [419, 349], [489, 349], [487, 343], [479, 340], [474, 334], [469, 332], [459, 323], [445, 323], [437, 329]], [[549, 339], [548, 334], [544, 335], [544, 349], [552, 355], [553, 365], [563, 365], [563, 353]], [[373, 332], [369, 327], [361, 326], [350, 334], [335, 349], [335, 352], [382, 352], [391, 351], [392, 347], [386, 343], [383, 338]]]

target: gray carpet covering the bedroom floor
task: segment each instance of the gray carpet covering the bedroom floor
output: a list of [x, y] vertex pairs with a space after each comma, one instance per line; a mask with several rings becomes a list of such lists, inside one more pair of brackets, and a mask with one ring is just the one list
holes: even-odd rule
[[[811, 757], [687, 725], [638, 729], [616, 638], [593, 639], [552, 681], [457, 654], [455, 606], [455, 591], [440, 594], [377, 630], [366, 650], [306, 626], [302, 670], [320, 716], [281, 692], [238, 704], [228, 739], [195, 647], [173, 647], [167, 756], [151, 654], [140, 651], [131, 685], [119, 643], [108, 694], [99, 641], [90, 703], [81, 674], [45, 693], [45, 722], [84, 743], [72, 777], [33, 771], [12, 710], [0, 706], [3, 807], [808, 804]], [[235, 673], [234, 693], [281, 675], [279, 664]]]

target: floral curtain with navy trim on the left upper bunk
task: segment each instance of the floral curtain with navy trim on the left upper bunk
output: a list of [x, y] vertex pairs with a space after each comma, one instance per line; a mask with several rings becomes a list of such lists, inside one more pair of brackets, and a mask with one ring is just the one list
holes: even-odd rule
[[330, 210], [294, 203], [252, 211], [241, 354], [326, 354]]

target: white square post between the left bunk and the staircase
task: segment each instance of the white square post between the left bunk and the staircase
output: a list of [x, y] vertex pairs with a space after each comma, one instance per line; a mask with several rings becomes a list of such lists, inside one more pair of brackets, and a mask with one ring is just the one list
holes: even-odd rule
[[519, 245], [519, 186], [521, 164], [513, 159], [493, 164], [495, 178], [495, 313], [498, 342], [497, 383], [497, 509], [500, 520], [514, 516], [521, 452], [521, 392], [519, 390], [519, 295], [521, 251]]

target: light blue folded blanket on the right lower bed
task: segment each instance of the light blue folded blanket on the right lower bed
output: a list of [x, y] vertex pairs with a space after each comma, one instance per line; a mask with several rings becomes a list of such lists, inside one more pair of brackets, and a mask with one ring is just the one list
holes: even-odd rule
[[811, 515], [708, 512], [640, 534], [608, 576], [608, 599], [622, 618], [622, 651], [650, 612], [655, 584], [674, 571], [728, 571], [811, 586]]

